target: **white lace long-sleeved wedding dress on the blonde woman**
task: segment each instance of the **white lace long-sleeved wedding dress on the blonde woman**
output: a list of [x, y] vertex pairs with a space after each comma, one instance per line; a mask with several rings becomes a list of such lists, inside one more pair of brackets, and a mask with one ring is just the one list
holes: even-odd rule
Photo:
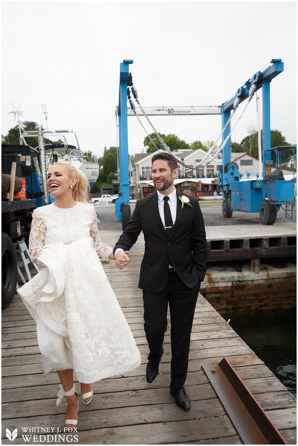
[[37, 208], [29, 248], [41, 270], [18, 293], [37, 322], [40, 347], [50, 343], [60, 358], [44, 357], [44, 372], [73, 368], [79, 382], [92, 383], [139, 367], [140, 352], [98, 258], [112, 248], [100, 240], [94, 207]]

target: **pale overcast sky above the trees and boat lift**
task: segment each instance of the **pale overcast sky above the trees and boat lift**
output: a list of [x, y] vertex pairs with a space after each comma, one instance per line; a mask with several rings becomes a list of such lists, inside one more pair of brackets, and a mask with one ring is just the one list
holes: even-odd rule
[[[190, 106], [221, 105], [273, 58], [284, 72], [270, 84], [271, 129], [295, 144], [296, 2], [2, 2], [2, 134], [13, 126], [12, 102], [44, 127], [46, 103], [50, 130], [73, 129], [82, 149], [101, 156], [116, 145], [123, 59], [134, 61], [141, 105]], [[221, 131], [220, 116], [151, 120], [188, 143]], [[254, 98], [232, 141], [248, 128], [257, 128]], [[128, 118], [130, 154], [145, 136]]]

